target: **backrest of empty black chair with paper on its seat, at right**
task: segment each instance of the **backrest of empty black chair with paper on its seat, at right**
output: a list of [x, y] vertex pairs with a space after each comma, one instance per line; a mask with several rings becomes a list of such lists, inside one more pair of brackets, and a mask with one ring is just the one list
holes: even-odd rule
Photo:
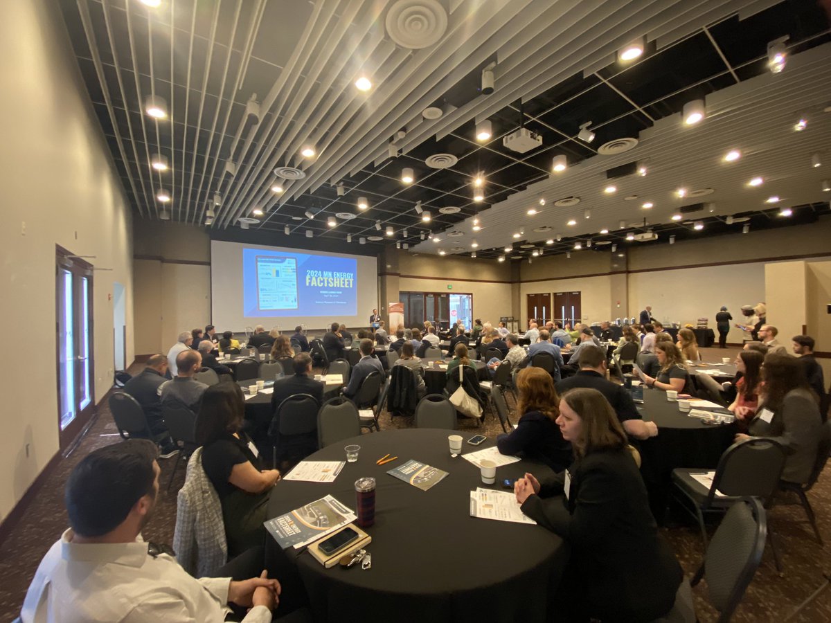
[[784, 449], [773, 439], [746, 439], [721, 454], [710, 490], [731, 496], [767, 499], [779, 486]]

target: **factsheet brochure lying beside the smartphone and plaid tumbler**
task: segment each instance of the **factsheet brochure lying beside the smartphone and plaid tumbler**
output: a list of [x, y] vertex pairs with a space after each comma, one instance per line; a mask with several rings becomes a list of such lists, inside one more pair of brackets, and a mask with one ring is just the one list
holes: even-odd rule
[[356, 520], [356, 514], [327, 495], [312, 503], [265, 522], [265, 527], [280, 547], [303, 547], [338, 527]]

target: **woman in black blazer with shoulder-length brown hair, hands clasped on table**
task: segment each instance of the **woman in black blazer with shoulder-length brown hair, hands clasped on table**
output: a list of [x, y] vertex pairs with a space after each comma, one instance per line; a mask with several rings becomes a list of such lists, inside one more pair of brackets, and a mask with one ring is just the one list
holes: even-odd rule
[[574, 463], [550, 482], [526, 473], [514, 487], [523, 513], [571, 546], [555, 607], [566, 621], [659, 618], [683, 573], [658, 535], [626, 433], [597, 390], [566, 392], [559, 410]]

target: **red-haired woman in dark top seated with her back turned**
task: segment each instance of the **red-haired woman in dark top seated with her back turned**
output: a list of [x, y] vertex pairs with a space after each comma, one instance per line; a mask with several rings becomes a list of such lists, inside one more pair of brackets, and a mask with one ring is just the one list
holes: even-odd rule
[[519, 454], [555, 472], [562, 471], [572, 463], [573, 456], [571, 444], [554, 423], [559, 415], [559, 396], [551, 375], [542, 368], [524, 368], [519, 370], [516, 387], [519, 423], [511, 433], [496, 438], [496, 447], [501, 454]]

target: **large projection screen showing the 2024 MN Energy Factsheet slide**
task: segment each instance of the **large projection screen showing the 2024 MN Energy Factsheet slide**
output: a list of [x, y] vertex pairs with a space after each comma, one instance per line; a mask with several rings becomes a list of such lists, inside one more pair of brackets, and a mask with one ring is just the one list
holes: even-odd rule
[[365, 326], [377, 303], [372, 256], [211, 241], [211, 314], [217, 331], [261, 324]]

